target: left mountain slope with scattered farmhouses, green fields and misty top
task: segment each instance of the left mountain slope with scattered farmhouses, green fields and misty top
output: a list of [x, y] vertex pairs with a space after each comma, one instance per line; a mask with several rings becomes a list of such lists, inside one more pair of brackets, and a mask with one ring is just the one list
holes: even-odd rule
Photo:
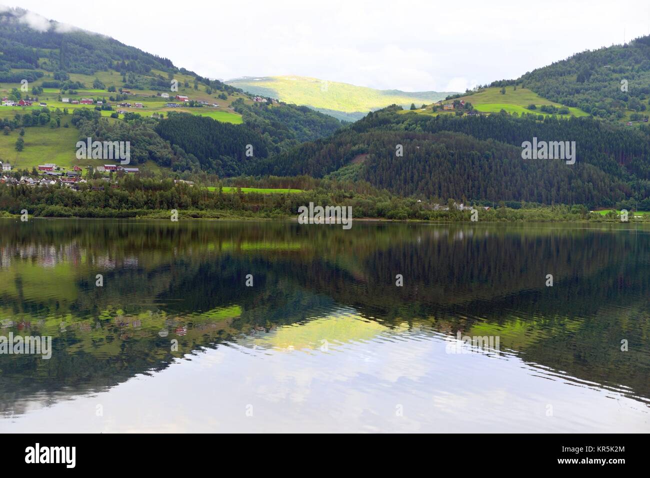
[[[233, 145], [259, 146], [257, 159], [341, 127], [331, 116], [277, 101], [253, 101], [252, 95], [179, 68], [168, 58], [19, 8], [0, 11], [0, 52], [0, 95], [8, 102], [35, 100], [29, 106], [0, 107], [0, 129], [5, 132], [0, 135], [0, 161], [10, 162], [14, 170], [32, 170], [44, 162], [68, 169], [100, 166], [106, 161], [75, 157], [77, 140], [88, 135], [99, 141], [130, 141], [133, 164], [146, 165], [147, 173], [171, 168], [236, 175], [244, 149], [233, 151]], [[188, 100], [174, 99], [176, 95]], [[90, 104], [81, 104], [82, 99]], [[162, 138], [157, 125], [174, 115], [183, 131], [216, 131], [226, 146], [209, 150], [217, 156], [203, 157], [201, 151], [185, 151], [175, 136]], [[231, 141], [244, 136], [248, 140], [243, 143]], [[20, 151], [19, 138], [24, 142]], [[196, 147], [195, 142], [183, 144]]]

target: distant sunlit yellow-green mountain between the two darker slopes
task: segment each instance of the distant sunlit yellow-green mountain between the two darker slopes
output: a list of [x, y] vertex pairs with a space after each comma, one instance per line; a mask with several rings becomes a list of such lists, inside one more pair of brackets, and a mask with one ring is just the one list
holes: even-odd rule
[[445, 99], [452, 92], [402, 92], [376, 90], [367, 86], [295, 75], [280, 77], [244, 77], [226, 81], [226, 84], [245, 92], [276, 98], [285, 103], [305, 105], [334, 118], [356, 121], [369, 111], [389, 105], [417, 107]]

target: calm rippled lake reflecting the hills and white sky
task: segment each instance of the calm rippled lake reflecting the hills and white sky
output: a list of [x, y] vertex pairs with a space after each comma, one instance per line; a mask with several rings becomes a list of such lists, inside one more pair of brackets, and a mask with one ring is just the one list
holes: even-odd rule
[[8, 433], [647, 433], [650, 229], [0, 220], [3, 337]]

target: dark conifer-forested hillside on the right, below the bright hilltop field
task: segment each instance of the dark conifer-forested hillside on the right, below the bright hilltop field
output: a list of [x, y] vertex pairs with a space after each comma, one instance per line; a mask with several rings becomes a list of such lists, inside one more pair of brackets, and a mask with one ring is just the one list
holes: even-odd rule
[[[253, 173], [328, 173], [401, 195], [609, 205], [650, 194], [650, 129], [593, 118], [424, 116], [399, 107], [369, 114], [332, 138], [255, 164]], [[523, 160], [521, 144], [575, 141], [577, 159]], [[396, 155], [402, 145], [403, 156]]]

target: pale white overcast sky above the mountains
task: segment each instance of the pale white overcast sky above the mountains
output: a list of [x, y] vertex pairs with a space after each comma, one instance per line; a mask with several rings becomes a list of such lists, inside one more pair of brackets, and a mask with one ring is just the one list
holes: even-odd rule
[[3, 3], [211, 78], [304, 75], [405, 91], [464, 91], [650, 32], [648, 0]]

